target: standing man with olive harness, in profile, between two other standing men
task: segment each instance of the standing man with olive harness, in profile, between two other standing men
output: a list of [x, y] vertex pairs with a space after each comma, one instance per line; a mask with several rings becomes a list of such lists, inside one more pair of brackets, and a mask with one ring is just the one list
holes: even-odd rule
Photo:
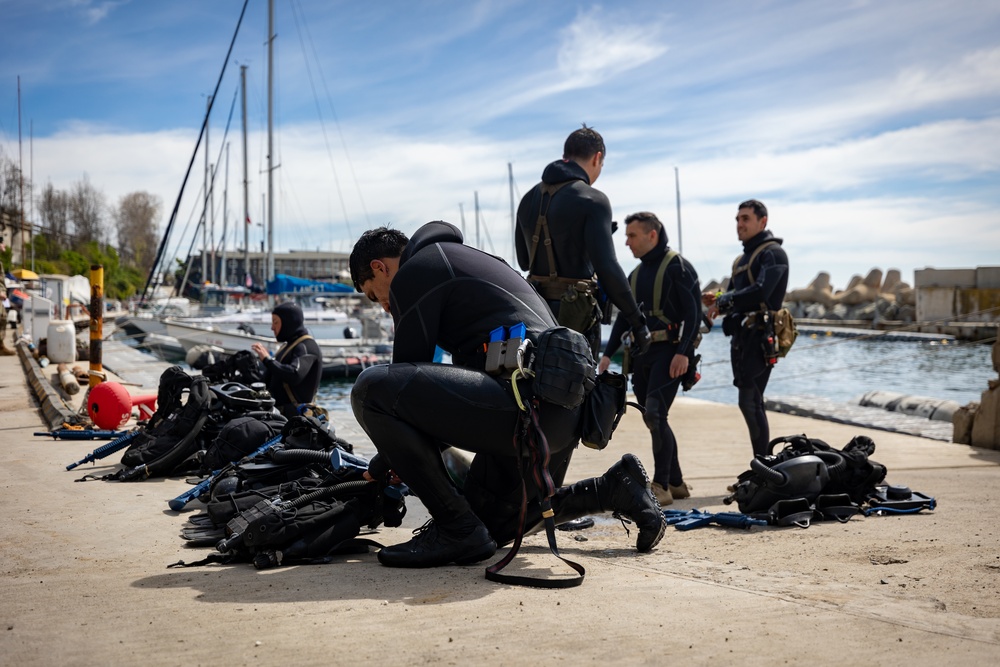
[[[667, 246], [667, 233], [654, 214], [633, 213], [625, 218], [625, 245], [640, 260], [629, 276], [635, 300], [650, 304], [643, 315], [653, 340], [649, 351], [632, 360], [632, 388], [643, 406], [643, 420], [653, 438], [653, 495], [660, 505], [687, 498], [677, 458], [677, 439], [667, 421], [682, 378], [693, 363], [701, 323], [701, 289], [694, 267]], [[607, 370], [621, 345], [628, 323], [619, 315], [598, 365]]]

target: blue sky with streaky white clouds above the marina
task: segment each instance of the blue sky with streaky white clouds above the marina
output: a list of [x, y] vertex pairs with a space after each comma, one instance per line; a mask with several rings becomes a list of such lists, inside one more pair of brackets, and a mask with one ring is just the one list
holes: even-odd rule
[[[464, 218], [467, 242], [512, 261], [508, 165], [519, 200], [586, 123], [607, 145], [595, 186], [615, 219], [655, 212], [703, 284], [728, 275], [751, 197], [784, 239], [790, 288], [821, 271], [842, 289], [873, 268], [912, 284], [924, 267], [1000, 264], [1000, 3], [274, 4], [277, 251], [349, 252], [371, 227]], [[213, 234], [225, 222], [231, 252], [244, 229], [259, 247], [268, 8], [249, 0], [227, 60], [243, 7], [0, 0], [0, 153], [36, 190], [86, 179], [109, 206], [156, 195], [161, 232], [177, 211], [168, 253], [183, 254], [218, 84]], [[631, 269], [622, 230], [614, 242]]]

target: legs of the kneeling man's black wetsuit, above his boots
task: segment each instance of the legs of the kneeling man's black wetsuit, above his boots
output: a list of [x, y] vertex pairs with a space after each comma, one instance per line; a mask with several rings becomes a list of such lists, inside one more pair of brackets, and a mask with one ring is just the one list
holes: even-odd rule
[[[358, 377], [351, 391], [351, 404], [379, 454], [434, 519], [447, 522], [470, 509], [469, 501], [448, 477], [441, 458], [447, 445], [476, 455], [465, 483], [466, 495], [503, 496], [509, 492], [512, 477], [518, 480], [520, 493], [519, 461], [514, 449], [520, 411], [509, 382], [452, 365], [374, 366]], [[539, 410], [552, 455], [550, 470], [555, 483], [560, 484], [579, 438], [580, 410], [544, 403]], [[527, 479], [529, 497], [537, 498], [531, 477]], [[474, 509], [487, 527], [497, 522], [497, 517], [491, 515], [509, 511], [505, 506], [479, 503]]]

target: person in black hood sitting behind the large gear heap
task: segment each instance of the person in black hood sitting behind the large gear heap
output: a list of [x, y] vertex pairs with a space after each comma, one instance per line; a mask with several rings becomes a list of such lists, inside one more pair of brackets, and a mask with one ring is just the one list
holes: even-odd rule
[[271, 311], [271, 331], [284, 343], [272, 357], [260, 343], [253, 351], [264, 362], [264, 380], [275, 407], [285, 417], [298, 414], [298, 406], [313, 403], [323, 377], [323, 355], [309, 335], [302, 309], [294, 303], [279, 303]]

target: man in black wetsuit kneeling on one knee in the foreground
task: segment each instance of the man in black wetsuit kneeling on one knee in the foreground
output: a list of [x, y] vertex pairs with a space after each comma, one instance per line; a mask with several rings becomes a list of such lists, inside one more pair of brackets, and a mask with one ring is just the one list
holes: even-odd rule
[[[511, 444], [520, 411], [510, 380], [486, 373], [484, 344], [495, 328], [516, 323], [535, 342], [555, 326], [552, 314], [520, 274], [463, 245], [446, 222], [427, 223], [409, 240], [384, 227], [365, 232], [350, 266], [355, 288], [392, 313], [396, 329], [393, 363], [366, 369], [351, 392], [354, 414], [378, 450], [369, 474], [395, 473], [431, 515], [413, 539], [382, 549], [378, 559], [391, 567], [485, 560], [517, 536], [521, 471], [530, 462]], [[435, 345], [451, 353], [451, 365], [431, 363]], [[613, 511], [637, 525], [639, 551], [655, 547], [666, 522], [639, 460], [626, 454], [600, 477], [561, 486], [582, 408], [541, 402], [538, 411], [559, 487], [556, 522]], [[462, 491], [441, 456], [450, 445], [475, 454]], [[541, 522], [542, 491], [530, 474], [525, 482], [527, 531]]]

